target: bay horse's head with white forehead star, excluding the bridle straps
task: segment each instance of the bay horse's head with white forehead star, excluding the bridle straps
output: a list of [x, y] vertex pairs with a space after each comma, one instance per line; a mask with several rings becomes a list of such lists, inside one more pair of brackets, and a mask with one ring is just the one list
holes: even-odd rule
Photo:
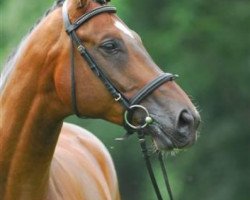
[[[69, 23], [73, 24], [84, 13], [103, 6], [101, 2], [68, 0], [65, 12], [69, 16]], [[65, 20], [67, 21], [64, 16]], [[90, 61], [83, 59], [77, 51], [77, 41], [72, 39], [74, 36], [69, 29], [74, 29], [72, 32], [75, 32], [80, 43], [84, 44], [91, 60], [100, 67], [105, 77], [125, 99], [133, 98], [141, 88], [161, 76], [163, 72], [143, 47], [138, 34], [130, 30], [112, 9], [100, 12], [84, 23], [80, 23], [81, 20], [82, 18], [78, 20], [80, 25], [77, 28], [65, 27], [67, 22], [63, 26], [60, 40], [63, 45], [60, 46], [61, 56], [55, 76], [58, 94], [68, 107], [71, 108], [72, 104], [76, 103], [81, 115], [123, 124], [123, 113], [127, 108], [110, 94], [100, 80], [99, 72], [90, 69]], [[71, 39], [65, 28], [75, 41], [74, 53], [71, 53], [71, 56]], [[70, 57], [74, 58], [74, 61]], [[74, 65], [74, 69], [70, 68], [70, 65]], [[70, 77], [72, 70], [74, 81]], [[153, 122], [148, 123], [145, 129], [152, 135], [159, 149], [183, 148], [193, 144], [200, 122], [194, 105], [172, 78], [173, 76], [167, 82], [163, 81], [154, 91], [145, 95], [137, 103], [143, 106], [142, 108], [130, 109], [133, 114], [130, 113], [132, 116], [129, 120], [134, 126], [143, 124], [145, 113], [149, 113]], [[72, 84], [75, 85], [75, 94], [71, 92]], [[75, 112], [73, 109], [71, 111]]]

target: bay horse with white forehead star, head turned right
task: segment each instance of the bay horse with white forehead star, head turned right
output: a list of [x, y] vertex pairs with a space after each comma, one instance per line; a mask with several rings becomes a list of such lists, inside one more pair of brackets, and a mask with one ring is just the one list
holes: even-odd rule
[[0, 198], [120, 199], [107, 149], [63, 120], [146, 129], [159, 150], [190, 146], [200, 117], [173, 79], [106, 1], [58, 0], [1, 75]]

